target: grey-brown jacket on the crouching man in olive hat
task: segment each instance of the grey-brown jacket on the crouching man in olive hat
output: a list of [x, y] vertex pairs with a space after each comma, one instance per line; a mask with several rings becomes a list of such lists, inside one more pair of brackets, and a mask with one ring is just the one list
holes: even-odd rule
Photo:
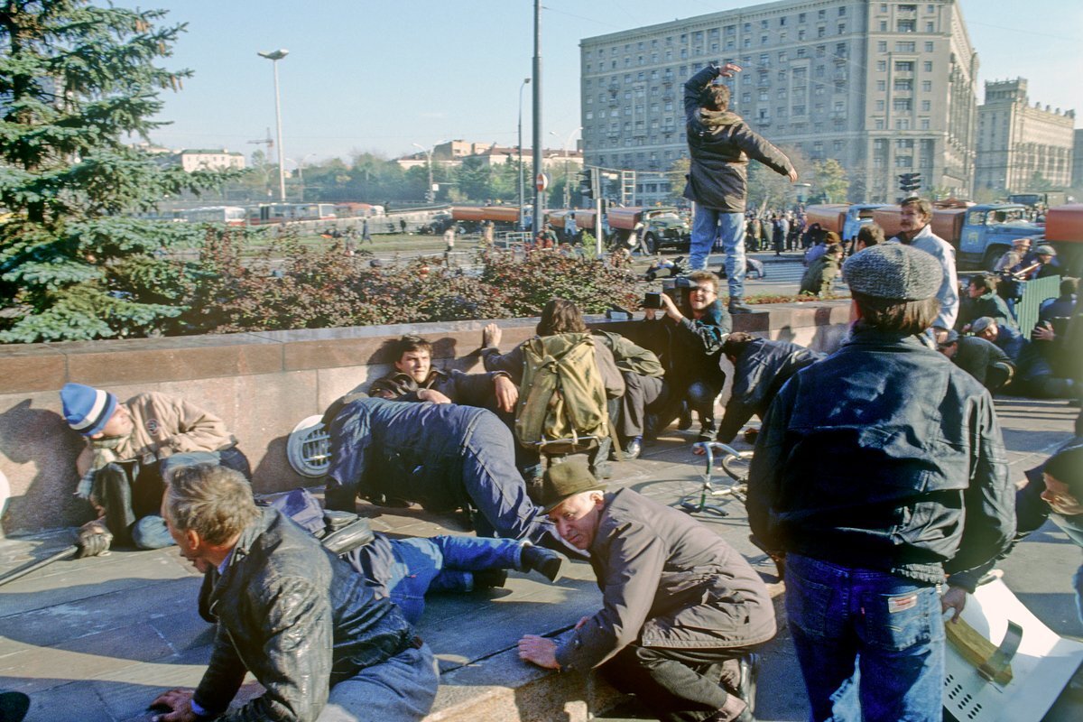
[[774, 636], [767, 587], [741, 554], [683, 512], [631, 489], [605, 495], [590, 565], [602, 609], [557, 649], [588, 670], [628, 644], [725, 648]]

